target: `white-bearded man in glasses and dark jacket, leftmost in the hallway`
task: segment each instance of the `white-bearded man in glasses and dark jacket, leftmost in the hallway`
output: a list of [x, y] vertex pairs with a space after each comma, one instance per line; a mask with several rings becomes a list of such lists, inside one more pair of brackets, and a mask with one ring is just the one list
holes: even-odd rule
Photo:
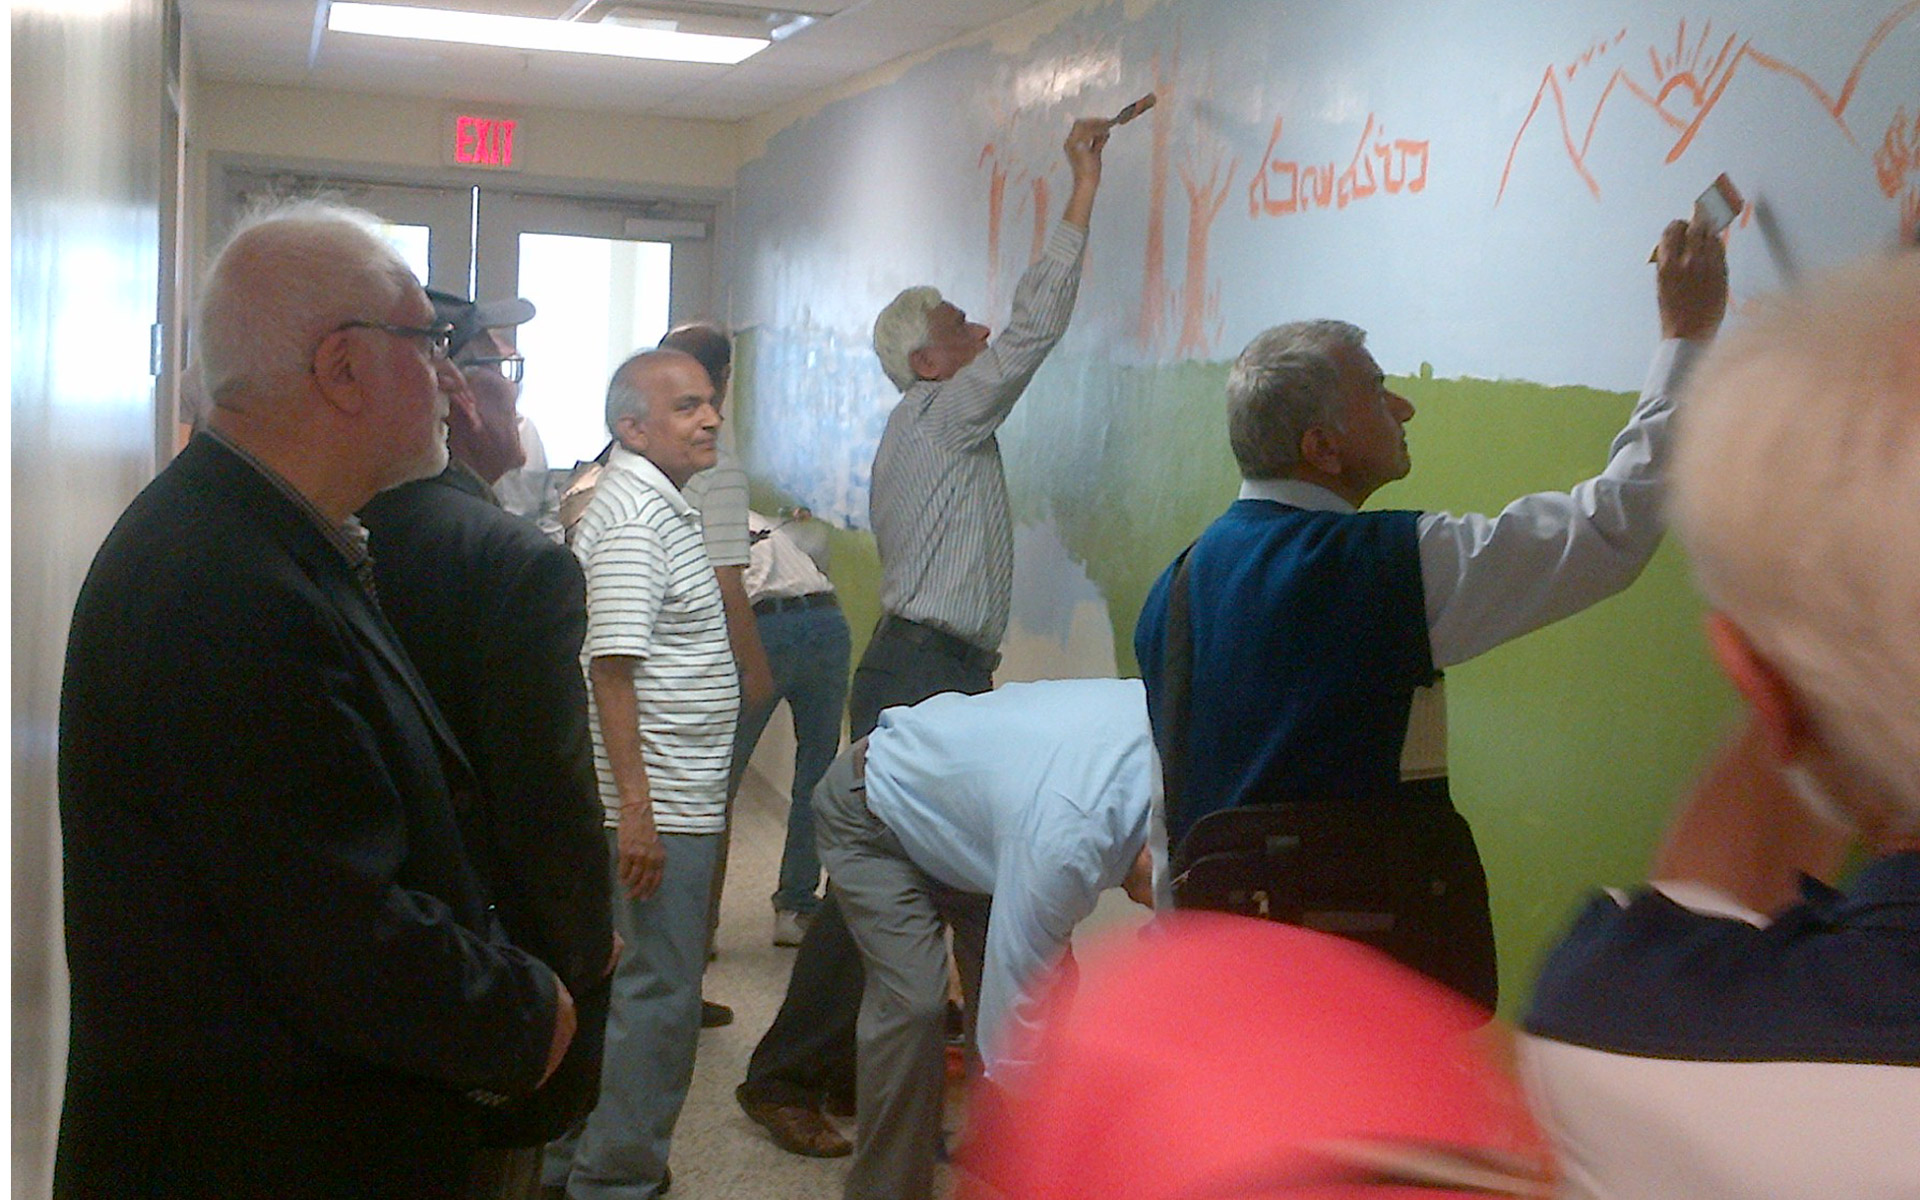
[[445, 465], [445, 326], [371, 217], [307, 204], [234, 234], [196, 332], [207, 428], [67, 645], [56, 1194], [457, 1194], [574, 1012], [488, 910], [351, 518]]

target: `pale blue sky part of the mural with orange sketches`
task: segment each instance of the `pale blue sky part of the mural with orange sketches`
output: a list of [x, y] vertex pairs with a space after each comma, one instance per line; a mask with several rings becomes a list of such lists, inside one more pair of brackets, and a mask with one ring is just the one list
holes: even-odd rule
[[[1133, 6], [1137, 8], [1137, 6]], [[1392, 372], [1626, 390], [1644, 244], [1728, 171], [1736, 300], [1920, 223], [1920, 0], [1724, 12], [1417, 0], [1073, 10], [937, 54], [772, 138], [741, 173], [735, 319], [758, 330], [755, 467], [847, 526], [895, 392], [872, 315], [933, 282], [989, 324], [1044, 244], [1071, 117], [1160, 104], [1108, 148], [1058, 363], [1223, 361], [1336, 315]], [[1548, 61], [1544, 71], [1542, 61]], [[1764, 136], [1755, 136], [1764, 131]], [[1766, 238], [1745, 232], [1763, 215]], [[1622, 328], [1626, 324], [1626, 328]], [[1081, 394], [1077, 403], [1098, 405]]]

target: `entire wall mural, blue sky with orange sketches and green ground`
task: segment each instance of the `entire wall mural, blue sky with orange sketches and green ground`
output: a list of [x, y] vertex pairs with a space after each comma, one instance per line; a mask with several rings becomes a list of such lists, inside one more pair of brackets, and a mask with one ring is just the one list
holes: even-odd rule
[[[1271, 324], [1354, 321], [1417, 405], [1413, 476], [1379, 503], [1565, 488], [1605, 461], [1653, 349], [1647, 248], [1716, 175], [1749, 200], [1736, 311], [1914, 236], [1920, 0], [1805, 8], [1060, 0], [1039, 33], [933, 54], [739, 175], [755, 486], [847, 530], [835, 570], [872, 611], [866, 480], [897, 401], [874, 315], [931, 282], [1002, 324], [1058, 217], [1071, 119], [1154, 90], [1108, 144], [1071, 328], [1000, 430], [1002, 678], [1133, 670], [1148, 586], [1235, 493], [1221, 388]], [[1732, 701], [1695, 630], [1663, 551], [1624, 595], [1450, 672], [1511, 996], [1571, 889], [1638, 877], [1718, 733]]]

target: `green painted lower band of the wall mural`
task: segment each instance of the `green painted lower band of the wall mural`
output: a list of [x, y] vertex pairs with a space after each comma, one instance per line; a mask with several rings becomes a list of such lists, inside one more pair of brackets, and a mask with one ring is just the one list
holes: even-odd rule
[[[751, 361], [753, 355], [741, 355]], [[1052, 520], [1106, 597], [1123, 674], [1146, 589], [1231, 499], [1223, 363], [1119, 367], [1056, 357], [1002, 430], [1016, 520]], [[751, 378], [737, 382], [743, 440]], [[1377, 507], [1494, 513], [1605, 465], [1632, 396], [1526, 382], [1396, 378], [1419, 409], [1413, 474]], [[789, 503], [764, 480], [756, 503]], [[835, 530], [833, 576], [856, 655], [877, 616], [864, 532]], [[1672, 801], [1732, 720], [1699, 603], [1663, 545], [1624, 593], [1448, 672], [1453, 793], [1486, 858], [1503, 1012], [1596, 885], [1645, 876]]]

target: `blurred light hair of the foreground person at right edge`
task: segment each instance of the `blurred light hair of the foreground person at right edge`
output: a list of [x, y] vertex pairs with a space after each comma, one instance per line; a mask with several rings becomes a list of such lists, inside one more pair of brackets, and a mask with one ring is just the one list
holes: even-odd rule
[[1668, 509], [1707, 599], [1920, 828], [1920, 253], [1720, 338], [1680, 403]]

